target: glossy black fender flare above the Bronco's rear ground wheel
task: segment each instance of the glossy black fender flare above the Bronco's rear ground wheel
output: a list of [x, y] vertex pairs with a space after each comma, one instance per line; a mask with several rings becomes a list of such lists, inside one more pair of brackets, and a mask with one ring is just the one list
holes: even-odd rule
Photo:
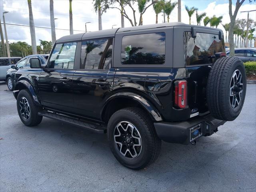
[[116, 94], [113, 94], [112, 96], [110, 96], [104, 104], [101, 115], [106, 110], [106, 107], [108, 106], [110, 101], [112, 101], [115, 98], [120, 98], [120, 97], [130, 98], [130, 99], [134, 100], [135, 102], [138, 102], [152, 116], [152, 118], [155, 121], [163, 120], [162, 116], [160, 115], [158, 110], [150, 102], [148, 102], [148, 100], [146, 100], [145, 98], [143, 98], [142, 96], [140, 96], [138, 94], [131, 93], [131, 92], [119, 92], [119, 93], [116, 93]]

